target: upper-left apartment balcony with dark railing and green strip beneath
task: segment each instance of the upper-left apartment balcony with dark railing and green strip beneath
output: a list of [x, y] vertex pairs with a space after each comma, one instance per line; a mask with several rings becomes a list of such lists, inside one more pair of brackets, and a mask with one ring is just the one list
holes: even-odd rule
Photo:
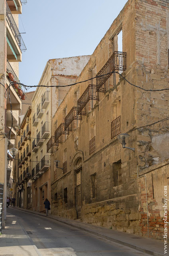
[[26, 51], [26, 46], [7, 3], [6, 20], [7, 58], [10, 62], [22, 61], [22, 52]]

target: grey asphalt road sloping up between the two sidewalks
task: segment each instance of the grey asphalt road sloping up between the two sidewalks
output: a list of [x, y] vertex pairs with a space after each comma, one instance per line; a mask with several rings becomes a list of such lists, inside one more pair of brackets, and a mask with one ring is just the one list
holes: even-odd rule
[[8, 213], [19, 224], [38, 249], [39, 256], [148, 256], [127, 246], [89, 234], [47, 217], [36, 216], [12, 207]]

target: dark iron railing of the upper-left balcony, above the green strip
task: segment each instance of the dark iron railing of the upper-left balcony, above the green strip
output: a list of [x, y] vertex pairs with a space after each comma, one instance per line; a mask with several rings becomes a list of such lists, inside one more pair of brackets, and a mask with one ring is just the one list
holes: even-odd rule
[[24, 44], [24, 41], [22, 39], [22, 36], [18, 30], [18, 27], [14, 21], [14, 18], [12, 16], [12, 13], [10, 11], [10, 8], [8, 4], [6, 3], [6, 20], [8, 22], [8, 25], [12, 31], [12, 34], [14, 35], [14, 38], [16, 39], [16, 42], [20, 48], [21, 51], [25, 52], [26, 51], [26, 46]]

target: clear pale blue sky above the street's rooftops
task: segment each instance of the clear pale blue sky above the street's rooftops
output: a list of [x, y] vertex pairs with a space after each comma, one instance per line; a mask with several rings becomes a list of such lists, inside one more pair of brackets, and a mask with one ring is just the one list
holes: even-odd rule
[[22, 53], [20, 82], [38, 84], [49, 59], [92, 54], [126, 2], [28, 0], [19, 17], [27, 48]]

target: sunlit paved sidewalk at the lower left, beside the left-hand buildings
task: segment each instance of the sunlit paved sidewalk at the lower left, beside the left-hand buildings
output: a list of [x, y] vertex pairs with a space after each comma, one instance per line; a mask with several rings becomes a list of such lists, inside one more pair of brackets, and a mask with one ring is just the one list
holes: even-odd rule
[[41, 256], [31, 238], [18, 223], [18, 218], [7, 214], [5, 230], [0, 236], [0, 255]]

